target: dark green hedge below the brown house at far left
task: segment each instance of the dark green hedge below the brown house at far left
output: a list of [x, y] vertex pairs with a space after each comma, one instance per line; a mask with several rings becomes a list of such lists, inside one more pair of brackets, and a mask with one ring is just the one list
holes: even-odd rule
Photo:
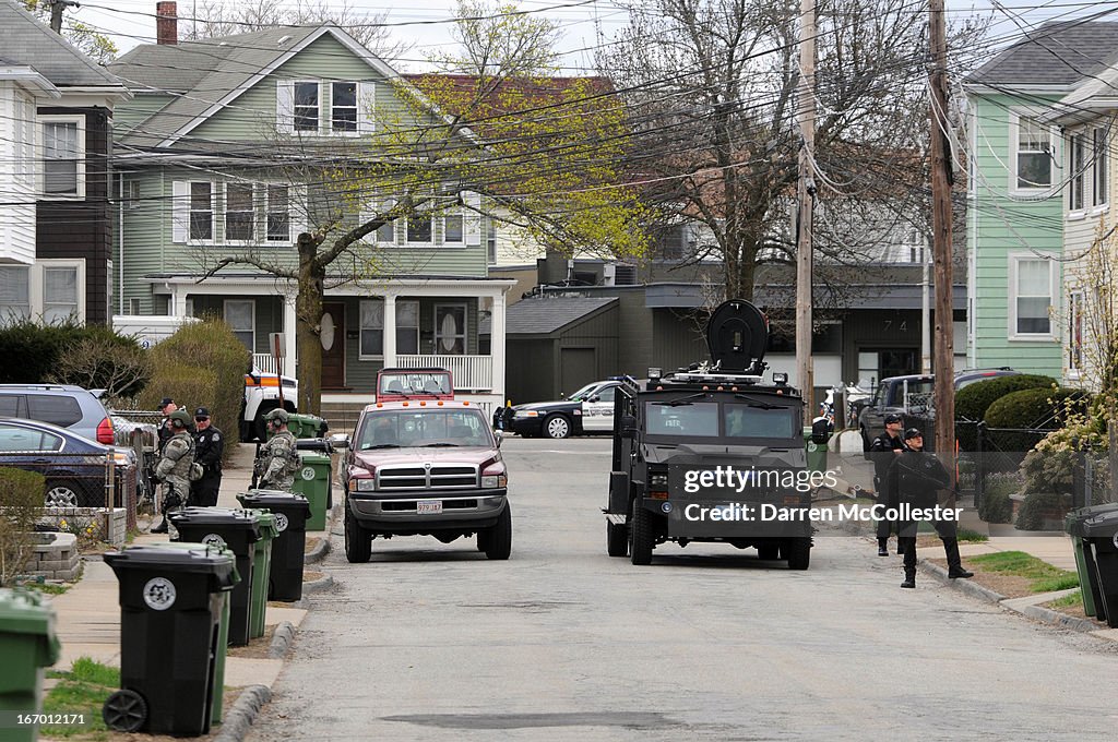
[[[41, 324], [31, 320], [0, 326], [0, 358], [19, 359], [19, 363], [0, 363], [0, 383], [40, 383], [53, 381], [59, 361], [83, 341], [92, 341], [121, 352], [139, 349], [132, 337], [117, 335], [103, 325], [82, 325], [73, 321]], [[83, 384], [85, 386], [85, 384]], [[86, 387], [106, 388], [103, 383]]]

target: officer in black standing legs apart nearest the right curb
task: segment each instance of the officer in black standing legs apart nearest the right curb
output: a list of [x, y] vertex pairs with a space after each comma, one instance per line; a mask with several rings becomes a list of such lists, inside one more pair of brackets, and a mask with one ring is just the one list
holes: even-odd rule
[[[923, 450], [922, 432], [916, 428], [906, 430], [904, 445], [908, 450], [901, 454], [893, 465], [899, 500], [912, 507], [935, 507], [939, 503], [939, 491], [951, 489], [951, 477], [935, 454]], [[956, 538], [958, 523], [954, 519], [937, 519], [934, 524], [936, 533], [944, 542], [947, 577], [953, 580], [974, 577], [974, 572], [964, 569], [963, 559], [959, 556], [959, 540]], [[903, 534], [898, 535], [904, 553], [904, 582], [901, 587], [915, 588], [917, 524], [907, 521], [901, 525], [903, 530], [898, 531], [898, 534]]]

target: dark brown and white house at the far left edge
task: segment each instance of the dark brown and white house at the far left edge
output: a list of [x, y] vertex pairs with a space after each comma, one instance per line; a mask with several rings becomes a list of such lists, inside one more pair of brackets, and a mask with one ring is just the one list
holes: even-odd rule
[[129, 91], [15, 0], [0, 0], [0, 321], [105, 323], [110, 139]]

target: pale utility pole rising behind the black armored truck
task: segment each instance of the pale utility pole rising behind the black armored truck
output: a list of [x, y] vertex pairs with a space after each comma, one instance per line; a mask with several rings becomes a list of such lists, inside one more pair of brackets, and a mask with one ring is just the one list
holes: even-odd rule
[[812, 206], [815, 199], [815, 0], [799, 0], [799, 85], [796, 108], [799, 117], [799, 185], [796, 198], [796, 382], [804, 394], [804, 426], [815, 416], [812, 378]]

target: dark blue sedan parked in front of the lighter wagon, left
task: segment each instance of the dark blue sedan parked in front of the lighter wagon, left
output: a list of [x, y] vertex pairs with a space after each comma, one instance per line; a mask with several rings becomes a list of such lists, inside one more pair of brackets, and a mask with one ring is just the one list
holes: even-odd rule
[[103, 507], [110, 456], [120, 498], [135, 481], [131, 449], [105, 446], [49, 422], [0, 418], [0, 466], [42, 474], [48, 507]]

